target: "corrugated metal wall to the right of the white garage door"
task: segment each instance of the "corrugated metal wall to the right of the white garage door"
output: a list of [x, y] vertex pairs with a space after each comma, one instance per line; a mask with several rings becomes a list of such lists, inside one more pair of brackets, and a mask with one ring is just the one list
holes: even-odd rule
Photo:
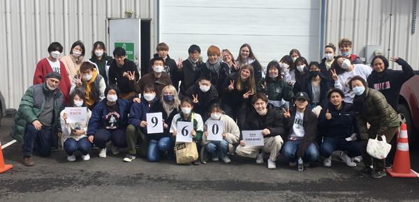
[[[341, 38], [349, 38], [353, 41], [353, 52], [360, 57], [365, 57], [366, 45], [383, 45], [386, 57], [399, 56], [419, 70], [419, 30], [411, 32], [415, 0], [328, 0], [326, 3], [325, 44], [337, 45]], [[390, 67], [401, 69], [392, 62]]]

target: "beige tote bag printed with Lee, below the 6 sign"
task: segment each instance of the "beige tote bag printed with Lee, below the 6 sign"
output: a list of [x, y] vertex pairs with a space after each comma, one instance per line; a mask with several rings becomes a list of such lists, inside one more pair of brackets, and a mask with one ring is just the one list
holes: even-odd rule
[[198, 160], [198, 148], [196, 142], [177, 142], [175, 144], [176, 162], [178, 164], [189, 164]]

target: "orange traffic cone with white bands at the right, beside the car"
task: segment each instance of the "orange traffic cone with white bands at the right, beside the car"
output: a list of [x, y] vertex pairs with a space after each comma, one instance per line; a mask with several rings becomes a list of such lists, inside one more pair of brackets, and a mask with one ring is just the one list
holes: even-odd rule
[[387, 169], [387, 173], [392, 177], [418, 178], [418, 173], [413, 171], [410, 166], [409, 140], [407, 139], [406, 123], [402, 124], [399, 137], [397, 138], [397, 150], [393, 166]]

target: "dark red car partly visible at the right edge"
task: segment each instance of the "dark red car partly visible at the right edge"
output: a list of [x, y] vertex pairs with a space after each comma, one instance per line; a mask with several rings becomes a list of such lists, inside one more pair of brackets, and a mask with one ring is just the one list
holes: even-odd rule
[[419, 75], [406, 81], [399, 93], [399, 108], [402, 121], [407, 124], [409, 144], [419, 147]]

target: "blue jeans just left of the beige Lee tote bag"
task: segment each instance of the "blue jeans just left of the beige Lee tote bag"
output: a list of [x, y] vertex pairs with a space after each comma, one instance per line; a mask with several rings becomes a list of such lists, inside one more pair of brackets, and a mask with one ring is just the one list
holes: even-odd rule
[[149, 141], [147, 160], [149, 162], [158, 162], [161, 159], [162, 152], [173, 150], [173, 141], [170, 137], [162, 137], [159, 141], [154, 139]]

